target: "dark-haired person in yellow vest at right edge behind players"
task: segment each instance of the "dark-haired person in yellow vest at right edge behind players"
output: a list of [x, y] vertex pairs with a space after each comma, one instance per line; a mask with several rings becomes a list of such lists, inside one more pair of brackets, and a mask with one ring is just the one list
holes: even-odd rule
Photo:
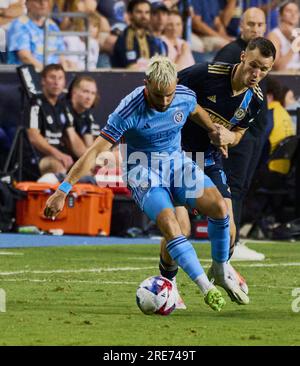
[[[268, 123], [265, 130], [265, 145], [261, 156], [261, 164], [266, 164], [268, 158], [277, 145], [286, 137], [295, 135], [291, 116], [281, 105], [282, 95], [280, 83], [272, 78], [267, 79]], [[287, 174], [290, 169], [290, 161], [278, 159], [268, 163], [268, 169], [272, 172]]]

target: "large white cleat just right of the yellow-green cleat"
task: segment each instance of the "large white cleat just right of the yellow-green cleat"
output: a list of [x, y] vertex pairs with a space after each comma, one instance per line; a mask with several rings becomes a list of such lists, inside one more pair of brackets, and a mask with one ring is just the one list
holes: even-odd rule
[[247, 305], [250, 302], [247, 294], [240, 288], [236, 277], [233, 276], [231, 271], [226, 266], [226, 272], [217, 273], [214, 267], [211, 266], [207, 272], [207, 277], [214, 285], [222, 287], [230, 297], [231, 301], [236, 302], [239, 305]]

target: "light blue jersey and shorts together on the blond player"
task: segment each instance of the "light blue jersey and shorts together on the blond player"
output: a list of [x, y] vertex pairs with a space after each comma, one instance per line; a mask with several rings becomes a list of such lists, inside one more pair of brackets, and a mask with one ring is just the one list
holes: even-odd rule
[[[171, 197], [180, 205], [196, 207], [195, 197], [214, 185], [181, 150], [181, 129], [196, 108], [195, 93], [177, 85], [169, 108], [158, 112], [148, 106], [144, 91], [139, 87], [126, 96], [100, 135], [111, 143], [122, 138], [127, 144], [123, 179], [139, 207], [155, 221], [162, 209], [173, 207]], [[146, 161], [137, 153], [144, 153]], [[138, 157], [131, 160], [132, 155]]]

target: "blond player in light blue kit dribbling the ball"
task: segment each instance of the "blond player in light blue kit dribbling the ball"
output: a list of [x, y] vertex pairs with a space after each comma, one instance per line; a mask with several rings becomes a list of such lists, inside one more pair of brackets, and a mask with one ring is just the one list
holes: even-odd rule
[[72, 185], [95, 166], [98, 154], [124, 138], [128, 186], [136, 203], [166, 238], [162, 256], [170, 255], [199, 287], [205, 302], [220, 311], [225, 300], [208, 280], [175, 214], [174, 205], [179, 204], [209, 217], [212, 259], [225, 273], [230, 241], [227, 206], [212, 181], [181, 150], [181, 129], [187, 117], [205, 128], [216, 146], [224, 148], [226, 136], [197, 104], [194, 92], [177, 85], [176, 66], [166, 57], [152, 58], [145, 86], [127, 95], [109, 116], [100, 136], [48, 199], [45, 215], [58, 215]]

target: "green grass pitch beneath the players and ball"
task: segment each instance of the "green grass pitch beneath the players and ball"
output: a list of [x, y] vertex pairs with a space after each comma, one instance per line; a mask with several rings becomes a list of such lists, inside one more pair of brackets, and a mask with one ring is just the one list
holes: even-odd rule
[[[180, 271], [188, 309], [167, 317], [146, 316], [135, 303], [137, 285], [158, 273], [158, 245], [1, 249], [23, 255], [0, 255], [7, 297], [0, 345], [300, 345], [300, 312], [291, 306], [292, 290], [300, 288], [299, 244], [249, 245], [266, 255], [264, 262], [233, 263], [247, 278], [251, 303], [231, 303], [222, 290], [220, 313]], [[207, 269], [209, 245], [195, 248]], [[253, 267], [282, 263], [294, 264]], [[97, 268], [104, 271], [86, 271]], [[51, 272], [59, 269], [74, 272]]]

